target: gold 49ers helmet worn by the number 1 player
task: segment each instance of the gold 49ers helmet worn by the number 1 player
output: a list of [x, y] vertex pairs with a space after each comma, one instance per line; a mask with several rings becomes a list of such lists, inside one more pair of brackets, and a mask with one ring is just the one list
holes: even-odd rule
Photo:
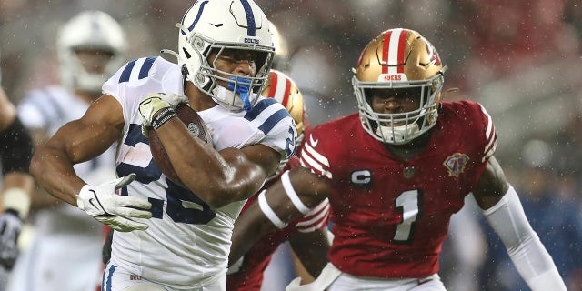
[[[414, 30], [396, 28], [376, 36], [352, 69], [362, 125], [377, 140], [404, 145], [437, 123], [443, 66], [437, 50]], [[417, 89], [420, 105], [406, 113], [376, 113], [368, 103], [371, 90]]]

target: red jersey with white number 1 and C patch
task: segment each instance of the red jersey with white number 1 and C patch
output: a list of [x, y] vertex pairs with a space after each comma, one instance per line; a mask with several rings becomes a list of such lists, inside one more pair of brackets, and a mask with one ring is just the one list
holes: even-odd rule
[[410, 160], [367, 134], [357, 114], [314, 128], [301, 163], [331, 180], [330, 262], [354, 276], [437, 273], [450, 217], [496, 144], [490, 116], [471, 101], [442, 103], [428, 145]]

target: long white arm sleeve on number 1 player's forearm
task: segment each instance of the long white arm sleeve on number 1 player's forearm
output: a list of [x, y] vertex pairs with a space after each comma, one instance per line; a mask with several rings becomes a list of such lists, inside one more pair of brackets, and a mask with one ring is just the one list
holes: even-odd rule
[[503, 241], [509, 257], [527, 286], [534, 291], [567, 290], [552, 257], [527, 222], [524, 209], [512, 186], [495, 206], [483, 213]]

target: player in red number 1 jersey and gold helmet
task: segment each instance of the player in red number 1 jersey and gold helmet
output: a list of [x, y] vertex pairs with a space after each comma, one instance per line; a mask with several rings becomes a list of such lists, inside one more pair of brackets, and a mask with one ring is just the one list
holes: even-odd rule
[[473, 194], [532, 290], [566, 290], [493, 156], [497, 136], [473, 101], [441, 102], [446, 66], [426, 38], [390, 29], [360, 55], [359, 114], [316, 126], [301, 165], [239, 217], [231, 258], [328, 198], [329, 264], [287, 290], [446, 290], [438, 256], [450, 217]]

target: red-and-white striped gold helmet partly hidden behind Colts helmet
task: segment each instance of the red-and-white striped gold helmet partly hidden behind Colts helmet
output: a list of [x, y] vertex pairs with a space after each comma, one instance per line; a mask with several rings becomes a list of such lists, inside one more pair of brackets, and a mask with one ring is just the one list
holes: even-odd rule
[[297, 144], [301, 143], [303, 139], [303, 130], [305, 129], [305, 115], [306, 109], [303, 103], [303, 95], [299, 92], [299, 88], [293, 80], [287, 75], [271, 70], [268, 83], [261, 94], [267, 98], [275, 98], [281, 103], [297, 126]]

